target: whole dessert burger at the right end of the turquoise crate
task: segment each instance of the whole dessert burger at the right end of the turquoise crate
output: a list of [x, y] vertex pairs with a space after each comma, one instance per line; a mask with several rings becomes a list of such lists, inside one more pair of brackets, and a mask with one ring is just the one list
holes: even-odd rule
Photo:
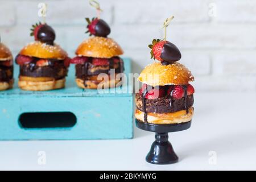
[[[76, 83], [84, 89], [97, 89], [99, 84], [102, 84], [100, 88], [113, 88], [121, 81], [115, 76], [123, 72], [123, 60], [119, 57], [123, 50], [108, 38], [110, 27], [104, 20], [86, 18], [86, 21], [91, 37], [80, 44], [76, 50], [77, 56], [71, 60], [76, 64]], [[108, 79], [98, 78], [101, 73], [105, 73]]]

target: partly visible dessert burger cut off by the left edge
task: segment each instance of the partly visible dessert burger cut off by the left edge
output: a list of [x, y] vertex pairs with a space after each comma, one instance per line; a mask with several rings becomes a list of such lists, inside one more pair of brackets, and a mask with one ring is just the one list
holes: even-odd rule
[[0, 91], [13, 88], [13, 55], [0, 42]]

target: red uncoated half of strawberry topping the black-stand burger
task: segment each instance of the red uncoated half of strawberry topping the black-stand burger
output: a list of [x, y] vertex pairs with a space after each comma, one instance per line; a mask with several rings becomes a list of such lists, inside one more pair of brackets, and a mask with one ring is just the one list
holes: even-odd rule
[[163, 50], [164, 44], [168, 43], [167, 41], [160, 40], [160, 39], [153, 39], [152, 44], [148, 45], [149, 48], [151, 48], [151, 59], [154, 58], [154, 60], [163, 61], [161, 58], [161, 53]]

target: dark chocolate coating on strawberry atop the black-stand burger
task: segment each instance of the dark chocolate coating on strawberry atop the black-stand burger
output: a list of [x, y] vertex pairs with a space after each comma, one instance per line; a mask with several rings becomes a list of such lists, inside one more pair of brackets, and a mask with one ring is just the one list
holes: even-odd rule
[[179, 61], [181, 59], [180, 50], [171, 42], [167, 42], [163, 46], [163, 50], [160, 55], [161, 59], [167, 61], [168, 63], [172, 64], [175, 61]]

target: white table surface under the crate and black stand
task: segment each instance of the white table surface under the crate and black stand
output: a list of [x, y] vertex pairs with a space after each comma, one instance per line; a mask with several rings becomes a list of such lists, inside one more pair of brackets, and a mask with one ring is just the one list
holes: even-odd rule
[[[176, 164], [147, 163], [154, 133], [135, 128], [129, 140], [0, 142], [0, 169], [255, 170], [256, 93], [196, 93], [194, 107], [191, 129], [169, 134]], [[45, 165], [38, 164], [39, 151], [46, 152]]]

